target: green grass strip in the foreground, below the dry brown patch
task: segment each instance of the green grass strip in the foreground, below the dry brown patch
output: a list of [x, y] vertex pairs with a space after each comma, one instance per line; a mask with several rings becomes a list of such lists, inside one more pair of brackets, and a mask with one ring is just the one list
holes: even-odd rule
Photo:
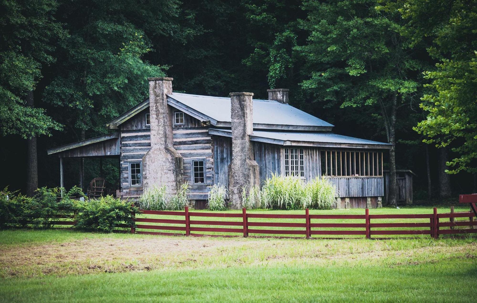
[[0, 285], [1, 302], [473, 302], [475, 262], [113, 273]]

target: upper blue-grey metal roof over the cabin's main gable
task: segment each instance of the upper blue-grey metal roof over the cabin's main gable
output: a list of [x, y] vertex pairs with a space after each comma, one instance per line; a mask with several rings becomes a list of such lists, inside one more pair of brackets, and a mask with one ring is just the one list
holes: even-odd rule
[[[216, 121], [231, 121], [230, 98], [228, 97], [200, 96], [176, 92], [168, 96]], [[293, 106], [269, 100], [253, 100], [253, 123], [324, 127], [333, 126], [332, 124], [294, 108]]]

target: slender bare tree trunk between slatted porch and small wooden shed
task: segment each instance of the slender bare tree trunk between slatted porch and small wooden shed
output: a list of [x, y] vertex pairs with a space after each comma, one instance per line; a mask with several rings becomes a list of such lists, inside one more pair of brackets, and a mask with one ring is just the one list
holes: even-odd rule
[[388, 119], [389, 143], [393, 144], [389, 150], [389, 195], [388, 205], [397, 205], [397, 182], [396, 182], [396, 111], [397, 111], [397, 96], [391, 99], [391, 114]]

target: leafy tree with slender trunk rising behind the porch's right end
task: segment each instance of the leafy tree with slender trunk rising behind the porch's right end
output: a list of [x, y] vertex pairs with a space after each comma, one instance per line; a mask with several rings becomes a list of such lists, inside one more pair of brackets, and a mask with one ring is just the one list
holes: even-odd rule
[[301, 27], [307, 44], [296, 47], [306, 63], [301, 82], [317, 101], [380, 112], [389, 151], [390, 204], [396, 203], [395, 144], [398, 110], [418, 91], [422, 62], [400, 35], [397, 11], [376, 9], [373, 0], [304, 1]]

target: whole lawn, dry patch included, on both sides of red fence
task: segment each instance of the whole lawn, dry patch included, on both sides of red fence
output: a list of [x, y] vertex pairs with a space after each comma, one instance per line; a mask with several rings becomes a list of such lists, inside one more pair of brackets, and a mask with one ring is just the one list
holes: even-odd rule
[[310, 241], [4, 230], [0, 302], [473, 302], [476, 256], [472, 236]]

